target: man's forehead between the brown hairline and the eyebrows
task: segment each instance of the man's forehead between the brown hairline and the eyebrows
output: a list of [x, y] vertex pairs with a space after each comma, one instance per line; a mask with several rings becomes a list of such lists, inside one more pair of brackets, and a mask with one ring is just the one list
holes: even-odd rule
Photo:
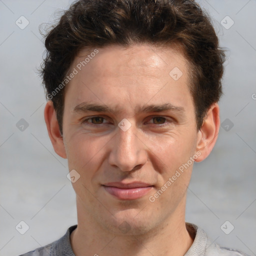
[[187, 61], [174, 47], [140, 44], [81, 50], [70, 70], [77, 72], [65, 92], [72, 109], [84, 101], [115, 103], [122, 109], [147, 101], [171, 101], [176, 106], [191, 102]]

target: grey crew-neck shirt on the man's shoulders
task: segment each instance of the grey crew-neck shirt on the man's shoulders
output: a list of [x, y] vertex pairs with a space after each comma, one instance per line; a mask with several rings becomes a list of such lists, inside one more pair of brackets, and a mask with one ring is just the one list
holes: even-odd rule
[[[70, 234], [76, 226], [70, 226], [58, 240], [19, 256], [75, 256], [70, 244]], [[194, 224], [186, 223], [186, 227], [194, 241], [184, 256], [249, 256], [239, 250], [221, 247], [211, 242], [206, 233]]]

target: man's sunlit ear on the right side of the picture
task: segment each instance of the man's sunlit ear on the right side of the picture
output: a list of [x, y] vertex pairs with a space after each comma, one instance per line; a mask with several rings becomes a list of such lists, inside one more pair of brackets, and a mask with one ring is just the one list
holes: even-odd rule
[[217, 140], [219, 122], [219, 106], [217, 103], [213, 103], [203, 118], [201, 128], [197, 132], [196, 155], [198, 157], [194, 158], [196, 162], [204, 160], [211, 152]]

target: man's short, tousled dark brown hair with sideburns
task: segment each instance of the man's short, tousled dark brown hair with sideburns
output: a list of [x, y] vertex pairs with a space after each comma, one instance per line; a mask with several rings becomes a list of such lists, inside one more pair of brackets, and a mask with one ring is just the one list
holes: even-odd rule
[[[189, 86], [197, 130], [208, 108], [222, 94], [224, 51], [208, 15], [194, 0], [78, 0], [46, 34], [41, 65], [46, 98], [53, 101], [62, 134], [63, 82], [82, 48], [178, 44], [190, 66]], [[49, 97], [50, 96], [50, 97]]]

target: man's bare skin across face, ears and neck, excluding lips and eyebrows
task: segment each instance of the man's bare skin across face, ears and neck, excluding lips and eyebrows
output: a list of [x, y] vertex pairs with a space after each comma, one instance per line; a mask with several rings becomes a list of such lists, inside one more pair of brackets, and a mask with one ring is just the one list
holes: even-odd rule
[[[209, 108], [197, 131], [187, 61], [174, 48], [140, 44], [98, 50], [66, 87], [63, 137], [51, 101], [44, 112], [55, 152], [68, 159], [69, 171], [80, 174], [72, 183], [78, 220], [70, 236], [72, 249], [76, 255], [184, 255], [193, 241], [185, 227], [193, 164], [167, 188], [166, 182], [196, 152], [195, 161], [208, 156], [219, 128], [218, 105]], [[87, 54], [80, 52], [70, 70]], [[174, 67], [183, 73], [176, 81], [169, 75]], [[83, 102], [114, 111], [85, 112]], [[165, 103], [179, 110], [139, 111]], [[96, 116], [103, 118], [88, 119]], [[125, 127], [131, 124], [126, 131], [118, 126], [123, 118]], [[134, 181], [150, 185], [136, 199], [118, 198], [104, 186]], [[163, 184], [165, 191], [150, 201]]]

